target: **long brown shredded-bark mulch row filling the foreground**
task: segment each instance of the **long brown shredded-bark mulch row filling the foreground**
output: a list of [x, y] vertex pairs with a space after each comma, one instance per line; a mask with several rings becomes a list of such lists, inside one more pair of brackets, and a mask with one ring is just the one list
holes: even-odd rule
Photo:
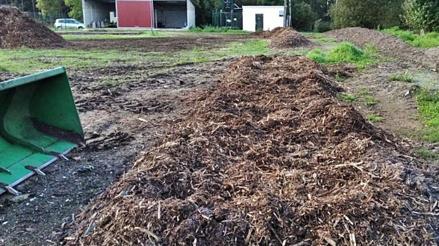
[[438, 170], [304, 57], [244, 57], [75, 216], [67, 245], [436, 245]]

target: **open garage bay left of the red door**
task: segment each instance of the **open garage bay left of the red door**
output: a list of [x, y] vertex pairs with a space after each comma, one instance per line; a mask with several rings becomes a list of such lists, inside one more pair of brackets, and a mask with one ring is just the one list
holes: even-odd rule
[[103, 21], [105, 18], [110, 21], [110, 11], [116, 12], [115, 2], [82, 0], [82, 14], [85, 25], [91, 24], [92, 21]]

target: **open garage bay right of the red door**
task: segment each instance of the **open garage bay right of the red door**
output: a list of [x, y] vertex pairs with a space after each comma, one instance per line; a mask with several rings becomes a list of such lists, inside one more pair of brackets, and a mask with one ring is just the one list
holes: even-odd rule
[[[154, 1], [154, 13], [157, 14], [157, 23], [162, 28], [183, 28], [187, 22], [186, 2], [182, 4], [167, 4], [166, 1]], [[158, 26], [160, 27], [160, 26]]]

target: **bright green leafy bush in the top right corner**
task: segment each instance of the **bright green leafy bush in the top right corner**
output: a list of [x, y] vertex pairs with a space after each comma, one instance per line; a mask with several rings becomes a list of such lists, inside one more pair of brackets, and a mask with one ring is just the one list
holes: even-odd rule
[[411, 29], [439, 31], [438, 0], [406, 0], [404, 21]]

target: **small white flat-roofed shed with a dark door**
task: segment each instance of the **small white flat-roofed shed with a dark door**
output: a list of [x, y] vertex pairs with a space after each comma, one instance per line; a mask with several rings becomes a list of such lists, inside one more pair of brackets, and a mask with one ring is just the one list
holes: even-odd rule
[[242, 30], [272, 30], [283, 27], [283, 6], [242, 6]]

